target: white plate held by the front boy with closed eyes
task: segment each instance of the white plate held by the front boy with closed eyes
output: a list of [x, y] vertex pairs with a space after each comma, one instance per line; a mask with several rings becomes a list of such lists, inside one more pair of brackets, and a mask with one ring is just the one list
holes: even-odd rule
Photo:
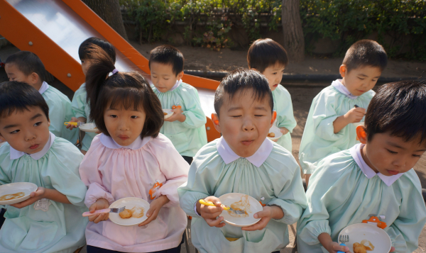
[[247, 213], [247, 215], [231, 215], [229, 214], [230, 211], [224, 210], [221, 213], [221, 216], [224, 218], [225, 223], [228, 223], [229, 225], [233, 225], [235, 227], [249, 227], [261, 220], [260, 218], [255, 219], [253, 217], [255, 213], [263, 210], [261, 203], [259, 203], [259, 201], [256, 201], [255, 198], [243, 193], [226, 193], [220, 196], [219, 199], [222, 204], [230, 207], [232, 207], [232, 204], [241, 201], [241, 203], [243, 203], [243, 207], [241, 209], [245, 210]]

